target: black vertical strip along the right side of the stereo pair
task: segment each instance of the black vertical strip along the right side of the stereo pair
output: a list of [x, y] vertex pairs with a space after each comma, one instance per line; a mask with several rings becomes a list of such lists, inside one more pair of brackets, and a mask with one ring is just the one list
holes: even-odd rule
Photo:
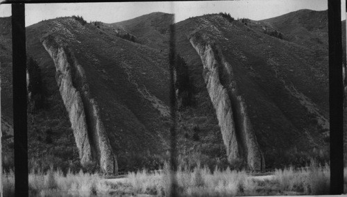
[[344, 87], [342, 80], [341, 1], [328, 1], [330, 194], [344, 194]]

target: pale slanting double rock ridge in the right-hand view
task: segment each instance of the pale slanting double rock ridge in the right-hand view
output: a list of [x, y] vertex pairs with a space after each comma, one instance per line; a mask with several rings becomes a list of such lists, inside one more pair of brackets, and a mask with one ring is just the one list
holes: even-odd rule
[[189, 36], [189, 42], [203, 62], [203, 78], [216, 110], [228, 161], [242, 158], [248, 169], [265, 169], [264, 156], [248, 118], [246, 103], [238, 95], [232, 67], [221, 51], [198, 33]]

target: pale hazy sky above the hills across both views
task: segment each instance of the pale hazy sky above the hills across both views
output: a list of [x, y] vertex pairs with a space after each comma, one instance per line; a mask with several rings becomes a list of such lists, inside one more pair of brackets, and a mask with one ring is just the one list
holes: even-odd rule
[[[346, 1], [342, 19], [346, 18]], [[229, 12], [232, 17], [253, 20], [276, 17], [300, 9], [327, 10], [328, 0], [244, 0], [244, 1], [178, 1], [125, 3], [42, 3], [26, 4], [26, 26], [71, 15], [82, 15], [87, 22], [120, 22], [151, 12], [176, 14], [176, 22], [208, 13]], [[0, 17], [10, 15], [10, 5], [0, 5]]]

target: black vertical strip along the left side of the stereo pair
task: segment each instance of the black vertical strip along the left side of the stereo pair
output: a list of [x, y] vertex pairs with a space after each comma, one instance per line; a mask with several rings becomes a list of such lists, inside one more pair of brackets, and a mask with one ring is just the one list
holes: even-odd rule
[[15, 196], [28, 196], [28, 133], [26, 128], [26, 37], [24, 4], [12, 4], [13, 132]]

